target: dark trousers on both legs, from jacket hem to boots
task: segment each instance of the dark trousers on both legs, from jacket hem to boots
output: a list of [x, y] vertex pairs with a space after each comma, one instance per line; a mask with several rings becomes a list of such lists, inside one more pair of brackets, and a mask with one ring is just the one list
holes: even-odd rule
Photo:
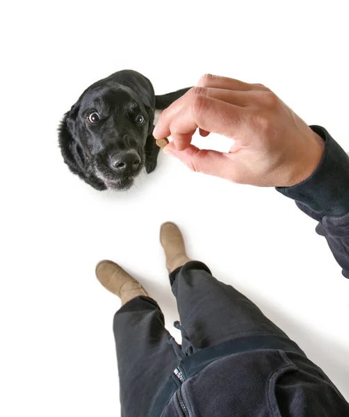
[[136, 297], [115, 313], [113, 328], [124, 417], [140, 416], [140, 410], [152, 407], [181, 355], [243, 336], [287, 338], [252, 301], [214, 278], [204, 263], [186, 263], [170, 274], [170, 283], [185, 329], [181, 353], [174, 349], [163, 313], [152, 298]]

